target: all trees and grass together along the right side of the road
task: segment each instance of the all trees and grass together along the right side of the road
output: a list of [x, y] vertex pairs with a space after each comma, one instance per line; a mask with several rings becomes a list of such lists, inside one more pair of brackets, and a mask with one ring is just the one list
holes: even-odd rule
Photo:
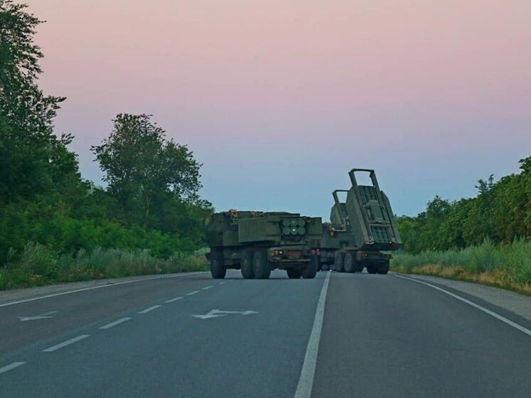
[[416, 217], [399, 217], [404, 251], [392, 269], [531, 294], [531, 157], [520, 170], [478, 181], [475, 198], [436, 197]]

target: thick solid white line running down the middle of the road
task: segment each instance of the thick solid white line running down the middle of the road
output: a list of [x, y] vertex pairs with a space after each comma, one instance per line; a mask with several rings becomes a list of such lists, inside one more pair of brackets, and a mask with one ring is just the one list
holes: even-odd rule
[[321, 340], [321, 329], [323, 328], [324, 307], [326, 302], [326, 292], [328, 291], [328, 281], [330, 281], [330, 272], [326, 273], [326, 279], [323, 282], [321, 295], [317, 303], [316, 318], [313, 320], [310, 340], [306, 347], [306, 355], [302, 364], [301, 376], [295, 391], [295, 398], [310, 398], [311, 388], [313, 387], [313, 377], [316, 373], [317, 353], [319, 350], [319, 340]]

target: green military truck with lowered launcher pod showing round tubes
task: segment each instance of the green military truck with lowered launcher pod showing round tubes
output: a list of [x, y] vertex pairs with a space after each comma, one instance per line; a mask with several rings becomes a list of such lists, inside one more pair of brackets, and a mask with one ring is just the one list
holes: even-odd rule
[[215, 279], [227, 269], [240, 269], [245, 279], [268, 279], [277, 268], [290, 279], [311, 279], [318, 271], [321, 217], [230, 210], [212, 215], [206, 235]]

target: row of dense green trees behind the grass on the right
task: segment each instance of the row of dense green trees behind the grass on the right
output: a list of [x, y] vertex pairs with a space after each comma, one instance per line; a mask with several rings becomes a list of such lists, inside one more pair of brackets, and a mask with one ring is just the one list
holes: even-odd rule
[[531, 156], [520, 173], [479, 180], [478, 194], [450, 202], [436, 196], [416, 217], [398, 217], [404, 250], [411, 253], [462, 249], [486, 240], [509, 244], [531, 238]]

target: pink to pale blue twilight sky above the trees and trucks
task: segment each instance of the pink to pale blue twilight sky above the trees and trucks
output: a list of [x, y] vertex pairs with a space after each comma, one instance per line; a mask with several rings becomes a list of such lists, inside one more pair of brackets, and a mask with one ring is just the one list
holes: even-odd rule
[[26, 0], [47, 22], [39, 85], [90, 153], [148, 113], [203, 167], [216, 210], [328, 219], [374, 168], [398, 215], [531, 156], [528, 0]]

